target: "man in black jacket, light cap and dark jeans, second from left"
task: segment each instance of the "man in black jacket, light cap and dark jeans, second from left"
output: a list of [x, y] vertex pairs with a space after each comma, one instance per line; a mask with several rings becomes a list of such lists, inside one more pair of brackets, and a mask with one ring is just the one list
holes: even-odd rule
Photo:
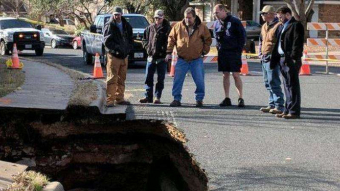
[[145, 98], [141, 99], [140, 102], [152, 103], [153, 76], [157, 69], [157, 84], [153, 103], [160, 104], [167, 71], [165, 57], [171, 27], [169, 21], [164, 18], [162, 10], [156, 10], [153, 18], [155, 22], [146, 28], [142, 40], [143, 47], [148, 53], [148, 62], [145, 69]]

